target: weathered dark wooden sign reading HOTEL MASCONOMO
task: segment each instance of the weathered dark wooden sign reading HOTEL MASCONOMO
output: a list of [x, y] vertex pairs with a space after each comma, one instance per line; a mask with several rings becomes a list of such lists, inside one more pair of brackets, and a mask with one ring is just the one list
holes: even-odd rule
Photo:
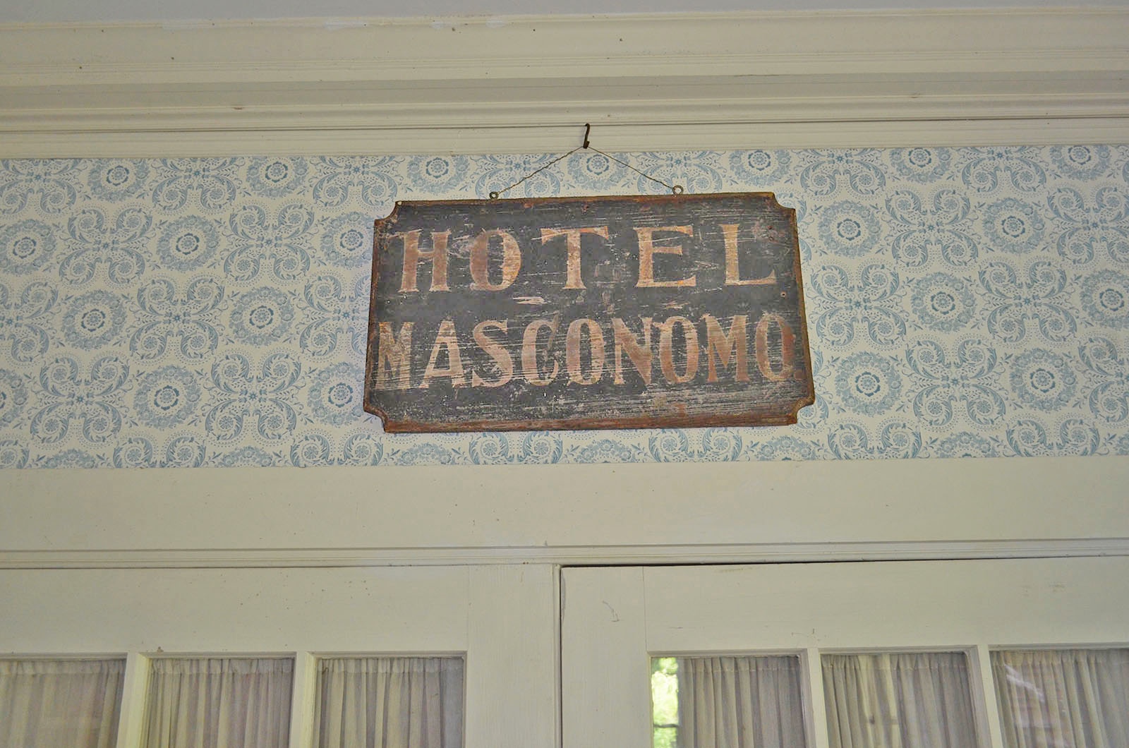
[[771, 193], [397, 202], [365, 409], [387, 432], [791, 424], [815, 401]]

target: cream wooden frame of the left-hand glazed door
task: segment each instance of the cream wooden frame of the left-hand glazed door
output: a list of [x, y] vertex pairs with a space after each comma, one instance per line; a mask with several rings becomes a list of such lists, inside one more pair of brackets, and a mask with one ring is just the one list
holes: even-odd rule
[[551, 565], [2, 571], [0, 600], [0, 654], [126, 658], [119, 748], [168, 654], [294, 656], [291, 748], [313, 742], [318, 655], [462, 655], [465, 748], [557, 743]]

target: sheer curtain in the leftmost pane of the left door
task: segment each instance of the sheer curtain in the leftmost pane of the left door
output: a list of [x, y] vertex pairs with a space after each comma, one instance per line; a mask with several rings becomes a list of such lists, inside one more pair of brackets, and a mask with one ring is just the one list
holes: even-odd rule
[[0, 660], [0, 748], [113, 748], [124, 660]]

